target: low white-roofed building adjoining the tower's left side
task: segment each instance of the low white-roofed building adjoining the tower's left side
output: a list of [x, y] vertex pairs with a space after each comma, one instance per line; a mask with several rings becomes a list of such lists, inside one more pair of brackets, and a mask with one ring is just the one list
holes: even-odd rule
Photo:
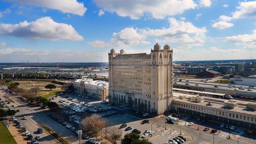
[[108, 99], [108, 82], [93, 81], [91, 78], [76, 79], [73, 84], [77, 94], [87, 95], [99, 100]]

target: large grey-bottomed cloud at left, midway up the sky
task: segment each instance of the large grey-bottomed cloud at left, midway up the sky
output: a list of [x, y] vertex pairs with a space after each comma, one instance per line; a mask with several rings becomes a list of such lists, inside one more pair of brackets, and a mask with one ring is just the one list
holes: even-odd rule
[[0, 23], [0, 35], [9, 35], [31, 39], [50, 39], [52, 41], [82, 41], [83, 37], [66, 23], [58, 23], [50, 17], [43, 17], [36, 21], [23, 21], [18, 24]]

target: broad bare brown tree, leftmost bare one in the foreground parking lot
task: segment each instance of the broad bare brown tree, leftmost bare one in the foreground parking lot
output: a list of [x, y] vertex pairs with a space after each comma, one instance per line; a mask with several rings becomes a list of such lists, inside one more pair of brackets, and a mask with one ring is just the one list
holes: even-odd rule
[[105, 126], [105, 119], [98, 114], [92, 114], [90, 117], [85, 117], [81, 120], [79, 127], [89, 136], [96, 137]]

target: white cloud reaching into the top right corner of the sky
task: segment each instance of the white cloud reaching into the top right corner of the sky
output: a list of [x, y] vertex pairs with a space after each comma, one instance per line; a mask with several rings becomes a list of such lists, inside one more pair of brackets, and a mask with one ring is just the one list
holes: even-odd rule
[[236, 11], [232, 12], [232, 16], [221, 15], [222, 21], [230, 21], [241, 18], [256, 18], [256, 1], [252, 2], [240, 2], [239, 6], [236, 7]]

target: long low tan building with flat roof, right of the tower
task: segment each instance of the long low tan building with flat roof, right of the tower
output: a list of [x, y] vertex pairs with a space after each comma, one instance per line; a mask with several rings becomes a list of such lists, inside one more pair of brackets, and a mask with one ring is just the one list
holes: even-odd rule
[[256, 129], [256, 103], [237, 100], [224, 100], [202, 96], [179, 97], [173, 100], [177, 113], [190, 115], [217, 123], [234, 125], [243, 129]]

